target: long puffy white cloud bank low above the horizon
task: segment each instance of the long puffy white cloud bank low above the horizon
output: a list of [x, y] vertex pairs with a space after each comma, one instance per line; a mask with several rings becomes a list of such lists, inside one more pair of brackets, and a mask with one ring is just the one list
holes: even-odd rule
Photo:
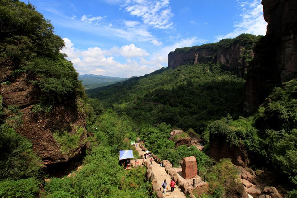
[[[65, 47], [61, 53], [67, 54], [75, 69], [80, 74], [97, 74], [107, 76], [131, 77], [149, 74], [161, 67], [167, 67], [167, 56], [176, 48], [201, 44], [206, 40], [196, 36], [182, 39], [173, 45], [166, 46], [150, 55], [145, 49], [134, 44], [113, 47], [104, 50], [98, 47], [80, 50], [68, 38], [63, 39]], [[114, 57], [123, 57], [124, 61], [117, 61]], [[120, 58], [120, 60], [123, 60]]]

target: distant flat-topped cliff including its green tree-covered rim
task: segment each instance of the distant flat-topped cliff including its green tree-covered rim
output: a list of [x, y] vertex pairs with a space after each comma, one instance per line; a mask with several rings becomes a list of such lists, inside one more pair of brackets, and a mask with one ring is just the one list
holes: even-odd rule
[[177, 48], [168, 54], [168, 67], [176, 68], [180, 65], [209, 61], [219, 62], [243, 78], [247, 73], [249, 62], [254, 57], [252, 48], [258, 38], [260, 37], [242, 34], [235, 39], [223, 39], [218, 43]]

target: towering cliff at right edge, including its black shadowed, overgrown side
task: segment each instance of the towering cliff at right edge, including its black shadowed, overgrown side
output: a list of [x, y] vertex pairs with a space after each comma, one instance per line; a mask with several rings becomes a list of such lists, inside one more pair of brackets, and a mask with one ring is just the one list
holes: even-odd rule
[[273, 87], [297, 78], [297, 2], [262, 0], [266, 36], [255, 47], [245, 85], [244, 108], [253, 112]]

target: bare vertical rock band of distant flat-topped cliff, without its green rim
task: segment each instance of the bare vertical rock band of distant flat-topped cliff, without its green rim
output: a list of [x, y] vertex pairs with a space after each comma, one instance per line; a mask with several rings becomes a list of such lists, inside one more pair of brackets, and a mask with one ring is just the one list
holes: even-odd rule
[[[242, 56], [244, 52], [245, 48], [236, 43], [231, 44], [228, 49], [191, 48], [188, 52], [174, 51], [168, 54], [168, 67], [174, 69], [180, 65], [213, 61], [225, 65], [229, 70], [237, 71], [243, 78], [249, 66]], [[254, 56], [253, 50], [248, 50], [248, 53], [251, 57]]]

